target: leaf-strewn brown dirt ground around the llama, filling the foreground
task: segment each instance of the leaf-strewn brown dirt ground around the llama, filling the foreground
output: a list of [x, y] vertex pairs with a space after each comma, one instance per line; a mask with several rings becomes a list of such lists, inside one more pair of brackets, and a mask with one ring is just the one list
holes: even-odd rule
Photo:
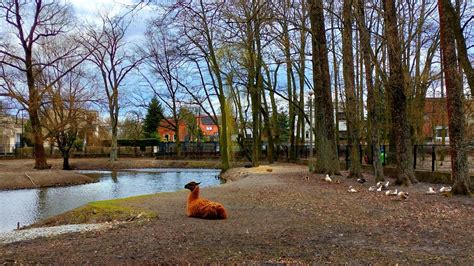
[[3, 245], [0, 263], [474, 263], [473, 198], [425, 195], [429, 185], [416, 184], [396, 187], [410, 193], [396, 200], [369, 192], [370, 176], [326, 183], [291, 164], [225, 176], [201, 196], [223, 203], [227, 220], [186, 217], [185, 190], [132, 198], [157, 218]]

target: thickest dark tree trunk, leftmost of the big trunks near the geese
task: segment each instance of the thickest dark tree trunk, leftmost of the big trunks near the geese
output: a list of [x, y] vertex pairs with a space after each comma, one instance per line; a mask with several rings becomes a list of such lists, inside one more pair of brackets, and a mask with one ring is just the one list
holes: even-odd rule
[[312, 31], [315, 133], [317, 134], [314, 171], [339, 174], [340, 166], [334, 134], [334, 110], [331, 98], [323, 3], [322, 0], [311, 0], [308, 4]]

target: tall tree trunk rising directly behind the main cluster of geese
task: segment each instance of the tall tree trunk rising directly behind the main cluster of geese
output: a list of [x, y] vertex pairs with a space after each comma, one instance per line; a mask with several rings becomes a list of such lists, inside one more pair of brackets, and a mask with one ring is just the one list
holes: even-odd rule
[[397, 26], [395, 0], [383, 0], [385, 37], [388, 46], [390, 76], [387, 91], [390, 95], [392, 112], [392, 132], [397, 150], [397, 183], [410, 185], [416, 183], [412, 167], [412, 147], [410, 128], [407, 119], [406, 83], [403, 77], [401, 41]]

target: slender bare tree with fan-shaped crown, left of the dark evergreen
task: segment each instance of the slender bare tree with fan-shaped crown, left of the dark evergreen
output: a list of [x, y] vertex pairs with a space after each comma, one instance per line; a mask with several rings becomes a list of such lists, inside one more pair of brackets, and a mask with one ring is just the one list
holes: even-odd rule
[[102, 14], [101, 25], [90, 26], [87, 36], [89, 51], [92, 53], [90, 61], [100, 71], [100, 78], [107, 96], [107, 109], [112, 128], [112, 144], [110, 160], [116, 161], [118, 156], [117, 134], [120, 112], [119, 95], [123, 92], [123, 83], [128, 74], [142, 61], [143, 57], [136, 57], [127, 42], [125, 35], [131, 23], [130, 12], [124, 15], [110, 16]]

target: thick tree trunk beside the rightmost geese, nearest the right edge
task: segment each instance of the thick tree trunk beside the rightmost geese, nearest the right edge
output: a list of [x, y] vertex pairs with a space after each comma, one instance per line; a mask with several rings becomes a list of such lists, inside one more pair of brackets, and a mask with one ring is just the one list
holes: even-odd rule
[[457, 68], [455, 36], [449, 28], [445, 10], [449, 0], [438, 0], [440, 17], [440, 41], [443, 53], [443, 72], [446, 84], [446, 106], [448, 108], [449, 146], [451, 148], [451, 172], [454, 194], [470, 194], [469, 166], [465, 142], [465, 117], [463, 112], [462, 76]]

